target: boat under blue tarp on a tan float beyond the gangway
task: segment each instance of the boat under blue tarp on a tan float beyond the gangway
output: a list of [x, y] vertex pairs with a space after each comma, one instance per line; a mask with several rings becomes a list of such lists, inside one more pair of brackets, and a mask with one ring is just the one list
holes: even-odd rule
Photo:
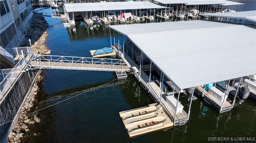
[[116, 52], [109, 47], [104, 47], [102, 49], [90, 50], [92, 57], [107, 57], [107, 56], [116, 56]]

